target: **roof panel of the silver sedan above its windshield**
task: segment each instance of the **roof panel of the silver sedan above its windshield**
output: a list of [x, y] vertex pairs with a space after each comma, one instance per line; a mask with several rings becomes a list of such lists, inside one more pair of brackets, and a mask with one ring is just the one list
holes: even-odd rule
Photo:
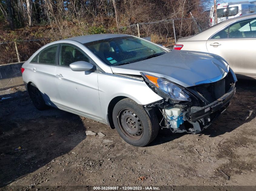
[[67, 38], [65, 40], [75, 40], [79, 43], [89, 43], [97, 40], [103, 40], [103, 39], [108, 39], [108, 38], [116, 38], [116, 37], [125, 37], [125, 36], [130, 36], [127, 34], [90, 34], [90, 35], [83, 35], [83, 36], [78, 36], [78, 37], [71, 37]]

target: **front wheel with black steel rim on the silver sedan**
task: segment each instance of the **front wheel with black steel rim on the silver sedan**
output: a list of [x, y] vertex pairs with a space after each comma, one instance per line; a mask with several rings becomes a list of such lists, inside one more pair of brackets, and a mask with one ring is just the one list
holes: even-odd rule
[[120, 100], [115, 105], [113, 122], [121, 138], [138, 147], [152, 142], [159, 130], [155, 114], [150, 117], [141, 105], [130, 98]]

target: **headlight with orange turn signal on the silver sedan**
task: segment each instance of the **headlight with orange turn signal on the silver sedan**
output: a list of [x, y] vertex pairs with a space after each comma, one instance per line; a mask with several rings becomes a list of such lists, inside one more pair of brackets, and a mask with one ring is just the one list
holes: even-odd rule
[[168, 97], [170, 97], [172, 100], [177, 101], [191, 101], [188, 94], [186, 94], [180, 87], [178, 87], [176, 84], [171, 83], [170, 81], [167, 81], [163, 78], [158, 78], [153, 75], [149, 75], [147, 73], [141, 72], [142, 76], [145, 77], [145, 79], [153, 84], [155, 88], [166, 94]]

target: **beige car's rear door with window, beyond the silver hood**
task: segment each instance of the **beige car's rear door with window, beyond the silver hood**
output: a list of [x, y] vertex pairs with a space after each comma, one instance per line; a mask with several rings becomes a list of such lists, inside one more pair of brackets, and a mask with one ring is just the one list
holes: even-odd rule
[[214, 34], [206, 43], [209, 53], [223, 57], [238, 75], [256, 76], [256, 18], [238, 21]]

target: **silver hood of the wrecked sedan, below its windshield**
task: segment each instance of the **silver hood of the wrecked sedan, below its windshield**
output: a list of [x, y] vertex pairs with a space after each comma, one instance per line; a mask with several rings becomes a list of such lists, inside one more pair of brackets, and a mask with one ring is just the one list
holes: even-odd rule
[[227, 66], [224, 59], [214, 54], [172, 50], [151, 59], [111, 66], [111, 69], [113, 73], [126, 75], [141, 75], [140, 72], [146, 72], [183, 87], [190, 87], [197, 82], [222, 76]]

